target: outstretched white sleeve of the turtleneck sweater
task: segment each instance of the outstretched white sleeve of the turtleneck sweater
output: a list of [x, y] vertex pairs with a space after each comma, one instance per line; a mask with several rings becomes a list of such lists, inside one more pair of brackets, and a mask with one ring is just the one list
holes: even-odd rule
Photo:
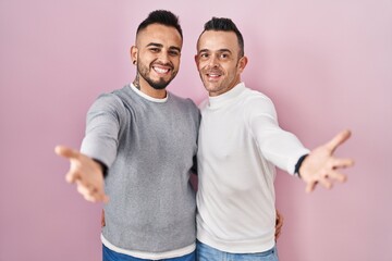
[[254, 97], [245, 107], [245, 121], [261, 154], [279, 169], [294, 174], [298, 159], [309, 150], [294, 134], [279, 126], [274, 105], [268, 97]]

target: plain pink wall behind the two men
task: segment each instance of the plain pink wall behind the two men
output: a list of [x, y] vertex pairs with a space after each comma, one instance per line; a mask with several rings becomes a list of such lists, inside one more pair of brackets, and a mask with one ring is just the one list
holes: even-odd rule
[[0, 0], [0, 260], [100, 259], [101, 204], [65, 184], [53, 147], [78, 148], [94, 99], [133, 79], [128, 49], [155, 9], [184, 29], [171, 91], [206, 96], [195, 42], [207, 20], [228, 16], [245, 37], [243, 79], [274, 100], [284, 128], [309, 148], [353, 130], [338, 150], [356, 160], [347, 184], [306, 195], [279, 173], [281, 260], [392, 260], [390, 0]]

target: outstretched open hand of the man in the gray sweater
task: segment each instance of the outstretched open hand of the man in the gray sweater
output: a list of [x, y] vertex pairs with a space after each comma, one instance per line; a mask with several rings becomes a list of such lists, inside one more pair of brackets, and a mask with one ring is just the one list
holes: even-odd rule
[[91, 202], [108, 202], [103, 190], [102, 166], [91, 158], [68, 147], [57, 146], [58, 156], [70, 160], [70, 171], [65, 175], [66, 182], [77, 186], [77, 191]]

